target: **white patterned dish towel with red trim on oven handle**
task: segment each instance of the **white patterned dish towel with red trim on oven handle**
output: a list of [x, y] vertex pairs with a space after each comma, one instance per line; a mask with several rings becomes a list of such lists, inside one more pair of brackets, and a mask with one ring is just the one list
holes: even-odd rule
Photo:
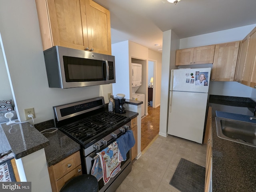
[[114, 141], [101, 152], [97, 153], [97, 155], [99, 157], [94, 161], [92, 166], [92, 175], [98, 181], [103, 177], [104, 184], [106, 184], [111, 177], [114, 177], [121, 170], [117, 142]]

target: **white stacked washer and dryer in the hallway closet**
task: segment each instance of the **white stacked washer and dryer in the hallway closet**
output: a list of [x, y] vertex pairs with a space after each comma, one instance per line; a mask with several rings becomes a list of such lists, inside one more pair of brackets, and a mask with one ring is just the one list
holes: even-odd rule
[[142, 65], [138, 63], [132, 63], [132, 99], [142, 101], [141, 116], [145, 115], [145, 94], [136, 93], [138, 88], [142, 84]]

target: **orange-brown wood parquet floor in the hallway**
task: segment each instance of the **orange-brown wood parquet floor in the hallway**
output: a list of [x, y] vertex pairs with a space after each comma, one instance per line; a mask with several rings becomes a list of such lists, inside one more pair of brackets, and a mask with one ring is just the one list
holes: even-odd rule
[[141, 120], [141, 151], [158, 135], [159, 121], [160, 106], [157, 108], [148, 106], [148, 115]]

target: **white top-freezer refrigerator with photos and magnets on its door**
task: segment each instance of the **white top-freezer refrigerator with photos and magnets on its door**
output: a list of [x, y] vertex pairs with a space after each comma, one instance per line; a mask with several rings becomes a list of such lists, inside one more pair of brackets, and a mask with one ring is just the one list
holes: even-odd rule
[[202, 143], [211, 68], [173, 69], [168, 134]]

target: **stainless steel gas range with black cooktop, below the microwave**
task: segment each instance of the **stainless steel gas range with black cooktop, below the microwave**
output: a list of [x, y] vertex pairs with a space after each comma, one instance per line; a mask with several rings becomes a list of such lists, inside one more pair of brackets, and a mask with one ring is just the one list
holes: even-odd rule
[[[81, 145], [83, 174], [91, 174], [96, 153], [116, 141], [130, 129], [131, 120], [126, 116], [105, 111], [104, 97], [97, 97], [60, 106], [54, 106], [55, 126]], [[121, 163], [121, 171], [104, 185], [99, 180], [99, 191], [113, 192], [131, 171], [131, 152]]]

